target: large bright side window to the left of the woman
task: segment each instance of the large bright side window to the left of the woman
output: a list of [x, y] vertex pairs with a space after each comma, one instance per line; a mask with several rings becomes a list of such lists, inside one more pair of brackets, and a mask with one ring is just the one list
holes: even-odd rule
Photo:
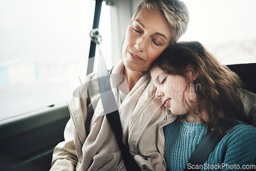
[[[70, 69], [89, 55], [94, 8], [84, 0], [0, 1], [0, 119], [67, 101]], [[105, 3], [101, 16], [110, 18]], [[102, 37], [111, 36], [108, 27]]]

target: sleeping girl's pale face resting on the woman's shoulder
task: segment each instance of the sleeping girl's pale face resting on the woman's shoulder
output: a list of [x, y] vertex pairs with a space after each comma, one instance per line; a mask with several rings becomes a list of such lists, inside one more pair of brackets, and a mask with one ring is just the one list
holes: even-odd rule
[[[169, 75], [159, 68], [153, 68], [151, 78], [157, 89], [156, 98], [162, 100], [166, 108], [174, 115], [184, 115], [188, 112], [189, 108], [184, 104], [184, 90], [187, 89], [187, 81], [183, 76]], [[191, 95], [194, 96], [195, 93]]]

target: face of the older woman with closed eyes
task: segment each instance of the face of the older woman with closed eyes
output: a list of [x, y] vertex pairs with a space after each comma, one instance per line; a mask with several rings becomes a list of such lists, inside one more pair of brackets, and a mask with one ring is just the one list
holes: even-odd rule
[[124, 66], [145, 72], [167, 48], [172, 37], [166, 18], [158, 10], [142, 9], [127, 28], [122, 47]]

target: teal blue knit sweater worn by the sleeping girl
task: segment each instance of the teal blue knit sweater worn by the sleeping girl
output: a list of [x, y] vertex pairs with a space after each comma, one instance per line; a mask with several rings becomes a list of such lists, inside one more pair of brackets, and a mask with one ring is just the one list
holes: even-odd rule
[[[163, 130], [169, 170], [184, 170], [191, 154], [206, 134], [206, 127], [202, 123], [175, 120], [173, 123], [164, 126]], [[188, 165], [188, 167], [199, 167], [201, 170], [249, 170], [242, 169], [242, 167], [245, 167], [243, 165], [251, 164], [255, 166], [255, 161], [256, 129], [251, 125], [240, 124], [234, 126], [223, 137], [214, 151], [210, 153], [204, 165]]]

